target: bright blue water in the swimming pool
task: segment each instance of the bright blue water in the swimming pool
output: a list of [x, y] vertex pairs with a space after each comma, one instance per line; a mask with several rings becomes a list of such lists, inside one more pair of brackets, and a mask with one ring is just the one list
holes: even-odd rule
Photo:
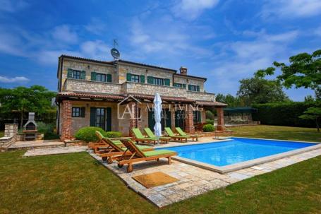
[[176, 151], [179, 157], [224, 167], [226, 165], [284, 153], [311, 145], [316, 145], [316, 143], [231, 138], [231, 141], [182, 145], [166, 149]]

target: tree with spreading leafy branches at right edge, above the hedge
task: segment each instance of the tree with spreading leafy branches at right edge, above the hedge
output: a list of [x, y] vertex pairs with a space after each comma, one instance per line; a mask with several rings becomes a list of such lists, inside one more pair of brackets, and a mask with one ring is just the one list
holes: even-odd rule
[[277, 80], [286, 88], [310, 88], [315, 91], [316, 100], [321, 100], [321, 49], [313, 54], [302, 53], [289, 58], [289, 65], [274, 61], [274, 67], [258, 70], [257, 77], [274, 75], [276, 68], [281, 69]]

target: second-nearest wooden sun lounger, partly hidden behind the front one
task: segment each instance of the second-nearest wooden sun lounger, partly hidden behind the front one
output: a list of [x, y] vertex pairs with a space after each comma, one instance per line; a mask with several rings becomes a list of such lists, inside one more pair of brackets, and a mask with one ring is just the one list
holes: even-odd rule
[[[99, 156], [102, 157], [102, 160], [107, 160], [108, 164], [111, 164], [113, 162], [113, 157], [120, 155], [131, 155], [131, 152], [127, 150], [126, 146], [123, 145], [123, 143], [115, 143], [115, 141], [111, 141], [111, 139], [109, 138], [104, 138], [104, 136], [102, 136], [102, 133], [100, 133], [99, 131], [96, 131], [96, 135], [99, 138], [99, 140], [106, 143], [106, 145], [109, 148], [109, 150], [105, 150], [104, 153], [99, 154]], [[123, 139], [128, 141], [128, 138]], [[138, 148], [144, 151], [154, 150], [154, 148], [151, 148], [147, 145], [138, 145]]]

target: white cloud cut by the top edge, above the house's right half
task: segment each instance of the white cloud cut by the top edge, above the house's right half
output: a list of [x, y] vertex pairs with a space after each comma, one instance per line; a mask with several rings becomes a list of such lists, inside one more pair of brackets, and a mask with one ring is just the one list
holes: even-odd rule
[[181, 0], [174, 6], [173, 12], [176, 16], [193, 20], [206, 10], [217, 5], [219, 0]]

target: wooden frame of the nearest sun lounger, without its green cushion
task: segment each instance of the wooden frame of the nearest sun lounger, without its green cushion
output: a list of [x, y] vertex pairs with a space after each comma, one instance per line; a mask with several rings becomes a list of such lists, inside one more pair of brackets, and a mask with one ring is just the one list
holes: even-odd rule
[[131, 155], [122, 155], [119, 157], [118, 167], [121, 168], [123, 165], [128, 164], [127, 172], [133, 172], [133, 163], [134, 162], [142, 162], [142, 161], [149, 161], [149, 160], [157, 160], [159, 158], [166, 157], [168, 159], [168, 164], [171, 164], [171, 156], [177, 155], [177, 153], [169, 153], [164, 155], [154, 155], [150, 157], [146, 157], [144, 153], [140, 150], [135, 148], [135, 145], [132, 145], [133, 141], [124, 141], [124, 145], [126, 145], [127, 149], [131, 151]]

